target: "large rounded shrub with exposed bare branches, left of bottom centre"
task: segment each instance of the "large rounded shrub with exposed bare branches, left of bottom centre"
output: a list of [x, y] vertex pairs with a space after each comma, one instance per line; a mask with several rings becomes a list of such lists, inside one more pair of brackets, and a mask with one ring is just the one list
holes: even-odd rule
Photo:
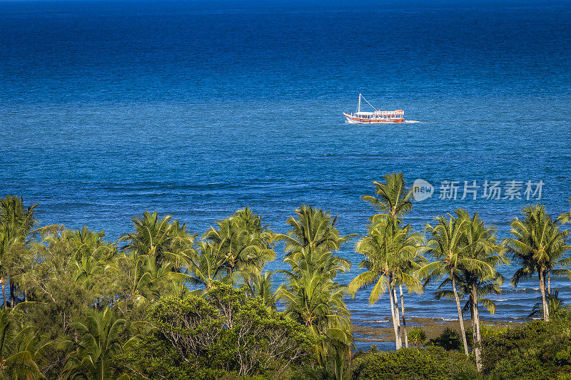
[[204, 298], [166, 297], [148, 313], [153, 332], [118, 358], [132, 376], [218, 379], [280, 375], [312, 357], [313, 334], [259, 298], [218, 283]]

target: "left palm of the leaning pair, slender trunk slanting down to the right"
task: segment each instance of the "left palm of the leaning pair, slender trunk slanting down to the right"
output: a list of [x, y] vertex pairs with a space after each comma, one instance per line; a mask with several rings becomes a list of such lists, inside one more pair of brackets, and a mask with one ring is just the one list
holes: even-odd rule
[[[458, 211], [457, 211], [458, 215]], [[460, 298], [456, 288], [455, 272], [462, 267], [476, 267], [473, 260], [465, 257], [467, 243], [465, 239], [465, 228], [468, 220], [465, 217], [448, 214], [449, 220], [443, 216], [435, 219], [434, 225], [427, 225], [426, 230], [431, 239], [427, 243], [428, 252], [435, 257], [435, 262], [423, 266], [418, 270], [418, 276], [425, 279], [424, 286], [442, 277], [450, 279], [453, 289], [456, 307], [458, 309], [458, 321], [464, 344], [464, 353], [468, 356], [468, 341], [464, 328], [462, 309], [460, 308]]]

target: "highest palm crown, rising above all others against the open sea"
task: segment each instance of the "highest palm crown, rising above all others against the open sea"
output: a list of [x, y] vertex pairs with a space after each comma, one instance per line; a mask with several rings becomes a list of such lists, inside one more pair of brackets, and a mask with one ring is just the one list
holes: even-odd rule
[[410, 202], [412, 189], [406, 187], [403, 173], [390, 173], [385, 175], [385, 182], [374, 181], [375, 195], [362, 195], [361, 199], [369, 202], [381, 214], [393, 217], [403, 217], [413, 208]]

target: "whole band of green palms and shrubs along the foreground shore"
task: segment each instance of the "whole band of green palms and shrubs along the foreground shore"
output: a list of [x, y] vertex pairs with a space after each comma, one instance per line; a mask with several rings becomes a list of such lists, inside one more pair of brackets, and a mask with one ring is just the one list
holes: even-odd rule
[[[495, 227], [458, 209], [423, 233], [405, 222], [413, 202], [402, 174], [374, 185], [363, 236], [302, 205], [284, 234], [248, 208], [203, 235], [144, 212], [110, 242], [88, 227], [42, 226], [36, 205], [6, 196], [0, 379], [570, 379], [571, 307], [551, 288], [551, 277], [571, 276], [569, 214], [552, 220], [531, 205], [498, 242]], [[351, 263], [338, 251], [353, 238], [362, 270], [343, 284]], [[270, 272], [280, 245], [287, 269]], [[530, 315], [543, 320], [480, 326], [508, 257], [514, 286], [537, 275]], [[427, 340], [407, 327], [404, 301], [431, 283], [435, 298], [455, 301], [460, 331]], [[355, 352], [345, 301], [363, 288], [371, 304], [388, 296], [395, 351]]]

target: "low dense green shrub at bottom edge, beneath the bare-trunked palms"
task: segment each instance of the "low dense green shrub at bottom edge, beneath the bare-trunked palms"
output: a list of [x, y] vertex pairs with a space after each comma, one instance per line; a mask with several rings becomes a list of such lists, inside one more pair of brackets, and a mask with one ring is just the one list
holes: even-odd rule
[[455, 379], [459, 374], [476, 374], [472, 361], [464, 354], [441, 347], [400, 349], [378, 352], [363, 359], [355, 369], [357, 379]]

